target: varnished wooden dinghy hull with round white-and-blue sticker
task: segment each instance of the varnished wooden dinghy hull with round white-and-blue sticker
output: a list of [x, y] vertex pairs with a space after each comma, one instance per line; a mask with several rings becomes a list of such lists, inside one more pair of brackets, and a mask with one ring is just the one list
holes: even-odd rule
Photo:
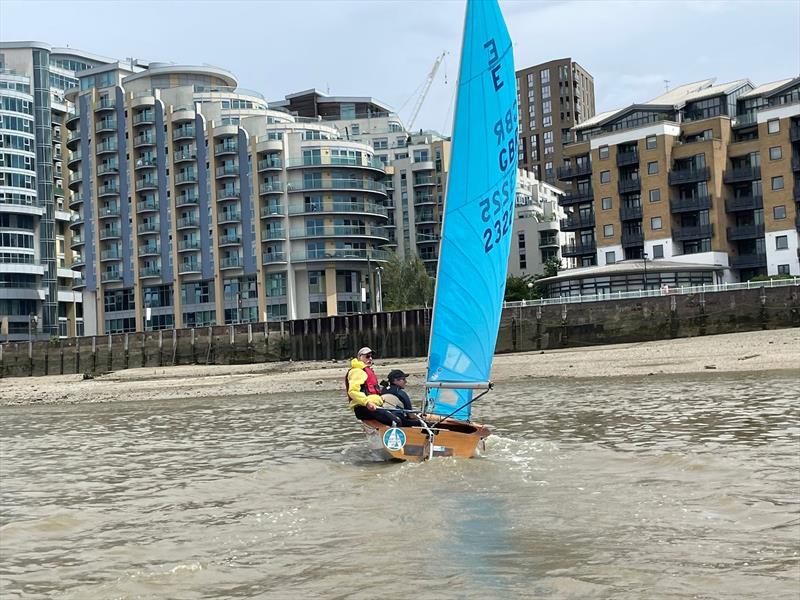
[[[430, 424], [435, 422], [431, 420]], [[446, 419], [436, 427], [431, 427], [434, 434], [431, 452], [430, 435], [422, 427], [393, 428], [372, 420], [361, 421], [361, 424], [370, 449], [382, 452], [386, 458], [410, 462], [422, 462], [431, 456], [480, 456], [490, 433], [487, 427], [478, 423]]]

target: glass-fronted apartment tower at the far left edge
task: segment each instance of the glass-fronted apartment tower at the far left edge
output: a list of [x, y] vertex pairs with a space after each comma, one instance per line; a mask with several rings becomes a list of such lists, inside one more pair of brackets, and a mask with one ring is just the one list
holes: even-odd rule
[[39, 42], [0, 43], [0, 341], [81, 335], [65, 201], [65, 91], [110, 62]]

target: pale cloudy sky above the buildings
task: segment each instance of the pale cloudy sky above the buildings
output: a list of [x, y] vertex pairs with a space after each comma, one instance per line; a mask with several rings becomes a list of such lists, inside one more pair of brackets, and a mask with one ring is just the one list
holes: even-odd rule
[[[761, 84], [800, 74], [800, 0], [501, 7], [516, 68], [572, 57], [594, 76], [597, 112], [649, 100], [664, 80]], [[463, 17], [462, 0], [0, 0], [0, 40], [208, 63], [269, 100], [316, 87], [372, 96], [406, 121], [434, 60], [447, 52], [415, 128], [449, 133]]]

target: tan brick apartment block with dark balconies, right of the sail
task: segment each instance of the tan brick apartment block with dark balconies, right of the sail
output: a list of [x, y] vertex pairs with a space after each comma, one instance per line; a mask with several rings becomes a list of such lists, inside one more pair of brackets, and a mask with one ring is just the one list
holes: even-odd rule
[[725, 267], [723, 279], [800, 274], [800, 78], [708, 79], [576, 125], [558, 169], [562, 253]]

